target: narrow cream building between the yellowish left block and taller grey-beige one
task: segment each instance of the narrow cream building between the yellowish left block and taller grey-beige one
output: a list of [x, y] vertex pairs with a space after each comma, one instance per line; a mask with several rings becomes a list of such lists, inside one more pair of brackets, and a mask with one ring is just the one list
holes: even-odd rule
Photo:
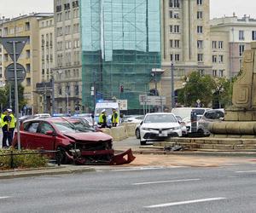
[[52, 112], [53, 69], [55, 68], [55, 21], [53, 14], [39, 22], [39, 70], [40, 79], [36, 84], [38, 113]]

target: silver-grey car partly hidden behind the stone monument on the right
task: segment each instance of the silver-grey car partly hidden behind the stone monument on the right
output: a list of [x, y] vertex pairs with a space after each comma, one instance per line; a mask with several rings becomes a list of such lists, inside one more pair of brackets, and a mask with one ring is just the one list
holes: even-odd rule
[[208, 136], [210, 131], [208, 130], [209, 124], [212, 122], [220, 122], [224, 120], [224, 110], [212, 109], [205, 112], [202, 118], [198, 121], [197, 132], [200, 135]]

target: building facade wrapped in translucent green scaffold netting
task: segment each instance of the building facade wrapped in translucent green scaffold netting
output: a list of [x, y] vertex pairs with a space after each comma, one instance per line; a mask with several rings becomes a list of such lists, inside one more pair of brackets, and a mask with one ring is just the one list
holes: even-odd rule
[[80, 8], [83, 105], [115, 97], [140, 109], [161, 66], [160, 0], [81, 0]]

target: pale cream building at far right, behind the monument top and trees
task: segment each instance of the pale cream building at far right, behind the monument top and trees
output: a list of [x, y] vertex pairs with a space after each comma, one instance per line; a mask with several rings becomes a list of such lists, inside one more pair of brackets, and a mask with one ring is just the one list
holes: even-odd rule
[[212, 75], [232, 78], [241, 69], [242, 55], [256, 41], [256, 20], [248, 15], [211, 20]]

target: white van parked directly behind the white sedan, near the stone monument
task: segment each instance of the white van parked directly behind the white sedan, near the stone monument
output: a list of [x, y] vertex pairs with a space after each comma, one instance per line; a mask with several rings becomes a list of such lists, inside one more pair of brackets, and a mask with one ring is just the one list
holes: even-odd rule
[[172, 108], [172, 113], [183, 119], [183, 122], [186, 124], [187, 131], [188, 133], [190, 133], [191, 132], [191, 120], [190, 120], [191, 112], [195, 111], [197, 115], [197, 120], [199, 120], [201, 119], [202, 115], [208, 110], [211, 110], [211, 108], [177, 107], [177, 108]]

